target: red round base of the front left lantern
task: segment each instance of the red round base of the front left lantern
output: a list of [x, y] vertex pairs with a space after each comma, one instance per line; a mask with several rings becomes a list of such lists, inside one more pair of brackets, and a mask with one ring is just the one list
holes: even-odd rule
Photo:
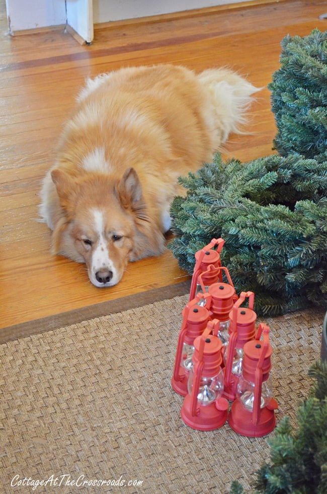
[[[219, 407], [219, 408], [218, 408]], [[193, 416], [191, 395], [184, 399], [181, 417], [185, 424], [197, 431], [213, 431], [223, 426], [227, 420], [228, 402], [220, 398], [210, 405], [198, 405], [198, 413]]]

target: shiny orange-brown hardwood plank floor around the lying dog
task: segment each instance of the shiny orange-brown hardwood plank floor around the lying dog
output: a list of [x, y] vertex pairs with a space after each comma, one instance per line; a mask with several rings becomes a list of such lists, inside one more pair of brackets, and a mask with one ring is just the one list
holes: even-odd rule
[[[2, 22], [0, 328], [187, 279], [167, 251], [129, 264], [119, 285], [100, 290], [84, 265], [49, 254], [50, 232], [37, 221], [40, 183], [86, 77], [171, 62], [197, 71], [228, 65], [266, 86], [279, 67], [282, 38], [315, 27], [324, 31], [327, 21], [318, 17], [326, 10], [323, 0], [286, 0], [119, 22], [96, 27], [91, 46], [80, 46], [63, 28], [12, 38]], [[275, 124], [267, 89], [259, 93], [247, 129], [252, 133], [231, 136], [225, 157], [247, 161], [271, 153]]]

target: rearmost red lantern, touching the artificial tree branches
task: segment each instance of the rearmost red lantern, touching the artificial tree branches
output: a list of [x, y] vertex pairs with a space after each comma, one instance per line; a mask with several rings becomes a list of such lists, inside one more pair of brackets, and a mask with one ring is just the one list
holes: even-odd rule
[[[222, 238], [212, 239], [210, 244], [203, 247], [203, 249], [199, 250], [195, 253], [195, 266], [192, 275], [191, 282], [191, 290], [190, 290], [190, 298], [189, 300], [193, 300], [198, 292], [201, 292], [202, 287], [199, 283], [199, 275], [208, 271], [208, 267], [212, 265], [214, 267], [213, 270], [207, 273], [206, 276], [203, 277], [202, 281], [204, 286], [206, 287], [205, 291], [208, 291], [208, 287], [219, 279], [220, 271], [217, 269], [221, 266], [220, 262], [220, 252], [224, 245], [224, 240]], [[217, 249], [214, 250], [214, 247], [217, 246]]]

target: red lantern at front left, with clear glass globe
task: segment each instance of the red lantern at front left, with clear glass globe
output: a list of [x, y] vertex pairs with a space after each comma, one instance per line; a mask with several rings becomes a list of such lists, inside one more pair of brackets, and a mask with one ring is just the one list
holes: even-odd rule
[[[213, 324], [215, 321], [213, 321]], [[228, 402], [222, 398], [222, 343], [206, 331], [194, 341], [193, 368], [188, 381], [181, 417], [185, 424], [199, 431], [211, 431], [225, 424]]]

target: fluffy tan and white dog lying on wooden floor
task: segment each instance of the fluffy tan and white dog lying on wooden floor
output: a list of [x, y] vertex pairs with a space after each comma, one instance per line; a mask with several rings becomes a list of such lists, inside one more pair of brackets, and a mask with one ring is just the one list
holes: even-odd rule
[[121, 68], [88, 80], [41, 190], [53, 254], [87, 265], [96, 287], [158, 256], [178, 177], [210, 162], [258, 91], [226, 68]]

